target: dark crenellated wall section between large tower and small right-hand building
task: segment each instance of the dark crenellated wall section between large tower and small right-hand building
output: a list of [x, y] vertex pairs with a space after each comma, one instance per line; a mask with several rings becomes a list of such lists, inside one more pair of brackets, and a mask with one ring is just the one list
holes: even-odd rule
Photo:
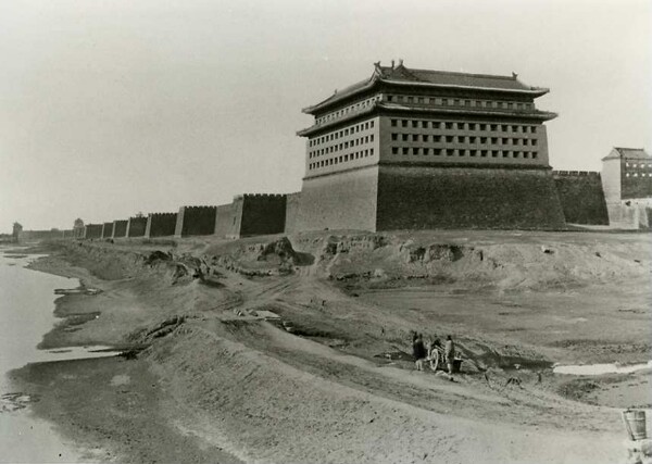
[[566, 223], [609, 225], [600, 173], [553, 171], [553, 177]]

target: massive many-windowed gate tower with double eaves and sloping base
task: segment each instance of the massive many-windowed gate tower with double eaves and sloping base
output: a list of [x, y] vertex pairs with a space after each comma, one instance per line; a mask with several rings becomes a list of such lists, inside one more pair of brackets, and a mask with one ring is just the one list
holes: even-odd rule
[[376, 63], [372, 76], [303, 110], [298, 230], [557, 228], [544, 88], [517, 76]]

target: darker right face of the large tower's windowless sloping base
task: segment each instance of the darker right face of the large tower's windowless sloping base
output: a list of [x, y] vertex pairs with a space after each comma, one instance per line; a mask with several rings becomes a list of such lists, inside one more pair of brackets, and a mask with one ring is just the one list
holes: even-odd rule
[[380, 166], [376, 230], [562, 229], [549, 170]]

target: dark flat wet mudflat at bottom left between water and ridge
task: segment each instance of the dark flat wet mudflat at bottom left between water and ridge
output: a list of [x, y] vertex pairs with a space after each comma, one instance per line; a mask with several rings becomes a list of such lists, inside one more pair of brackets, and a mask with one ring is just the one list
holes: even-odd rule
[[[29, 364], [14, 371], [30, 407], [84, 450], [82, 462], [200, 463], [239, 461], [175, 429], [161, 386], [145, 361], [122, 358]], [[181, 412], [183, 414], [183, 412]]]

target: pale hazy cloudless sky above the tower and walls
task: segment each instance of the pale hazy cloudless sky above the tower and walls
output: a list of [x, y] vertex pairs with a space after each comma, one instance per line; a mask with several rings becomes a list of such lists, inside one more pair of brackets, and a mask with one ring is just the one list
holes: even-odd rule
[[301, 189], [301, 109], [373, 63], [550, 88], [550, 164], [652, 152], [650, 0], [0, 1], [0, 231]]

